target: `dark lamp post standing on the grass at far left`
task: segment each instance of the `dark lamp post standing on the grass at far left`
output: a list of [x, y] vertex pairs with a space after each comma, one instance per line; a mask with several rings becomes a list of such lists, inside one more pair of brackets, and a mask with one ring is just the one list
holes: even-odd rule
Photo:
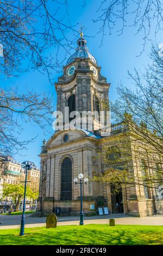
[[23, 181], [24, 184], [24, 198], [23, 198], [23, 210], [22, 210], [22, 219], [21, 219], [21, 228], [20, 228], [20, 235], [24, 235], [24, 225], [25, 225], [25, 210], [26, 210], [26, 189], [27, 189], [27, 174], [28, 170], [31, 170], [30, 164], [27, 162], [26, 164], [26, 179]]

